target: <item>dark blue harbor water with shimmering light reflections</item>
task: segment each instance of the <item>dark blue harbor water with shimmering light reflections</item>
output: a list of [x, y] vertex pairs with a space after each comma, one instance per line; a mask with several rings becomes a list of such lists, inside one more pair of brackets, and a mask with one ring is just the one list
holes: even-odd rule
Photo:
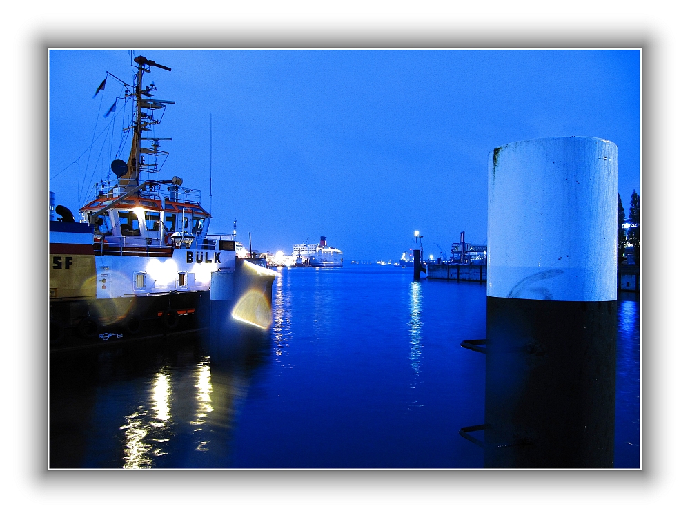
[[[213, 325], [213, 323], [212, 323]], [[273, 325], [222, 365], [204, 334], [50, 357], [50, 468], [482, 468], [486, 285], [282, 268]], [[618, 300], [615, 468], [640, 467], [639, 296]]]

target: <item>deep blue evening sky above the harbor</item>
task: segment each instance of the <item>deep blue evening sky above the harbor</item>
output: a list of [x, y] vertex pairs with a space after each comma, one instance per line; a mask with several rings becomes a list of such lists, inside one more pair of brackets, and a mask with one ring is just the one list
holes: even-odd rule
[[[493, 148], [582, 135], [618, 145], [618, 190], [640, 192], [638, 50], [135, 50], [158, 99], [174, 100], [156, 136], [172, 137], [159, 179], [177, 175], [213, 223], [259, 251], [328, 244], [349, 260], [396, 260], [486, 244]], [[103, 118], [128, 50], [51, 50], [50, 190], [77, 210], [106, 179], [122, 128]], [[126, 116], [129, 108], [126, 109]], [[106, 126], [115, 120], [115, 132]], [[94, 135], [101, 134], [88, 150]], [[84, 153], [86, 151], [86, 153]], [[82, 155], [83, 153], [83, 155]], [[81, 157], [80, 157], [81, 155]], [[75, 162], [79, 158], [78, 162]], [[112, 176], [112, 173], [111, 173]], [[438, 246], [437, 246], [438, 245]]]

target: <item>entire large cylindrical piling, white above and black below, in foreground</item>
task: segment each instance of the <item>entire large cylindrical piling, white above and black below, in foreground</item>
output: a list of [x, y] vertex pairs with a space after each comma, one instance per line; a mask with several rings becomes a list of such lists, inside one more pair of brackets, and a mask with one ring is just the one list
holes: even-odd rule
[[613, 467], [617, 175], [592, 137], [489, 157], [488, 468]]

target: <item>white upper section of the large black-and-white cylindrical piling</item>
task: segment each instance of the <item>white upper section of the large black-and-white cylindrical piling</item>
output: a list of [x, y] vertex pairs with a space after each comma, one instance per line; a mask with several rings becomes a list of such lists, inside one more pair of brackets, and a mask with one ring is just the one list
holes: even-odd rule
[[492, 297], [615, 300], [618, 148], [594, 137], [513, 142], [489, 156]]

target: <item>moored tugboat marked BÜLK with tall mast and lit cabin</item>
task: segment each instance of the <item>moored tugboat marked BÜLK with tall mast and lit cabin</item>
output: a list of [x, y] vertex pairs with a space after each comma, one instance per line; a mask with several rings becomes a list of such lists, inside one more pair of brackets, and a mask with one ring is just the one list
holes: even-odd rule
[[[79, 222], [62, 206], [50, 222], [51, 348], [208, 325], [213, 272], [242, 269], [235, 235], [208, 233], [211, 215], [198, 189], [177, 176], [151, 179], [168, 155], [161, 141], [172, 139], [146, 135], [175, 102], [153, 98], [156, 88], [143, 86], [144, 75], [171, 69], [143, 56], [134, 62], [133, 85], [108, 74], [132, 102], [127, 162], [112, 161], [115, 178], [95, 184]], [[269, 304], [274, 278], [261, 276]]]

